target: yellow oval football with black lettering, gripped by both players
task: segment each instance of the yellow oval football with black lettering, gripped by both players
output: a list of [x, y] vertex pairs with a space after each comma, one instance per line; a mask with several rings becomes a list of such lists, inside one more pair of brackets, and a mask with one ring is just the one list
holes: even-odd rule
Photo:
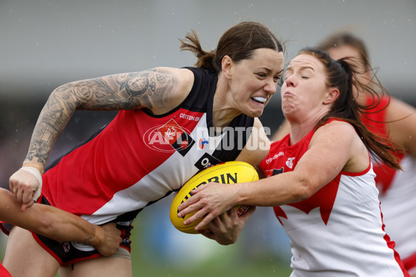
[[[236, 184], [257, 181], [258, 179], [259, 175], [257, 174], [257, 171], [249, 163], [245, 163], [243, 161], [227, 161], [200, 171], [189, 179], [189, 181], [187, 181], [182, 188], [180, 188], [179, 192], [173, 199], [170, 213], [173, 226], [175, 226], [177, 230], [184, 233], [200, 233], [195, 231], [194, 228], [199, 222], [201, 222], [202, 219], [196, 220], [191, 224], [184, 225], [184, 221], [196, 212], [189, 213], [184, 217], [177, 217], [177, 213], [179, 213], [179, 211], [177, 211], [177, 207], [191, 197], [191, 191], [198, 188], [198, 186], [208, 184], [212, 181], [221, 184]], [[248, 206], [236, 206], [236, 209], [237, 215], [240, 216], [248, 210]], [[205, 229], [207, 228], [208, 226], [205, 227]], [[203, 232], [203, 230], [204, 229], [200, 231]]]

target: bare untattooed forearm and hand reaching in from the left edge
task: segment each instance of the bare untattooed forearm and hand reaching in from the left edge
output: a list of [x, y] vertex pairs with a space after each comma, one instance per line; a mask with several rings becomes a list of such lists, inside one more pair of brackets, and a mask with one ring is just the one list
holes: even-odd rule
[[90, 244], [104, 256], [112, 255], [121, 243], [121, 231], [114, 223], [97, 226], [77, 215], [42, 204], [21, 211], [15, 195], [3, 188], [0, 188], [0, 220], [53, 240]]

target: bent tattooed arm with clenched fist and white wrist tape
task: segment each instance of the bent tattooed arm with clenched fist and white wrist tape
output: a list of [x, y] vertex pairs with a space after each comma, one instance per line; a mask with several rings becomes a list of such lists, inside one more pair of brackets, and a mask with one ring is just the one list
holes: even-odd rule
[[[37, 119], [24, 166], [43, 173], [53, 144], [77, 109], [110, 111], [146, 107], [154, 114], [164, 114], [180, 105], [192, 85], [191, 71], [166, 67], [64, 84], [51, 93]], [[35, 175], [37, 172], [20, 169], [10, 177], [10, 190], [23, 202], [22, 210], [32, 206], [33, 193], [40, 186]]]

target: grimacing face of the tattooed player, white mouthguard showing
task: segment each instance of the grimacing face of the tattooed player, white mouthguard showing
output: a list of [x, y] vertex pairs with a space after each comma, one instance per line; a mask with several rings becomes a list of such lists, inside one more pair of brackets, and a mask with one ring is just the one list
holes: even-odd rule
[[254, 50], [250, 59], [232, 63], [228, 102], [252, 117], [261, 116], [264, 107], [276, 93], [283, 73], [284, 55], [269, 48]]

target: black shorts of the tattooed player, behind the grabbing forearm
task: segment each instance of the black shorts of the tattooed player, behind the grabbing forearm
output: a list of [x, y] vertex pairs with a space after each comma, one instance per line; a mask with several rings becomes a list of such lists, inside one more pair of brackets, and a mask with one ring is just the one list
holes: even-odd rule
[[[46, 198], [42, 195], [41, 200], [37, 200], [40, 204], [50, 205]], [[137, 212], [138, 213], [138, 212]], [[130, 253], [130, 235], [133, 229], [132, 222], [135, 220], [137, 213], [127, 214], [128, 216], [123, 216], [123, 221], [118, 219], [114, 220], [116, 222], [117, 229], [121, 230], [121, 238], [123, 241], [120, 244], [120, 247], [127, 249]], [[132, 217], [128, 219], [128, 217]], [[88, 260], [91, 258], [97, 258], [102, 256], [94, 247], [88, 244], [83, 244], [80, 242], [58, 242], [56, 240], [51, 240], [46, 238], [43, 235], [33, 233], [33, 238], [37, 241], [40, 246], [42, 246], [48, 253], [55, 258], [60, 265], [71, 265], [75, 262], [80, 262], [81, 260]]]

